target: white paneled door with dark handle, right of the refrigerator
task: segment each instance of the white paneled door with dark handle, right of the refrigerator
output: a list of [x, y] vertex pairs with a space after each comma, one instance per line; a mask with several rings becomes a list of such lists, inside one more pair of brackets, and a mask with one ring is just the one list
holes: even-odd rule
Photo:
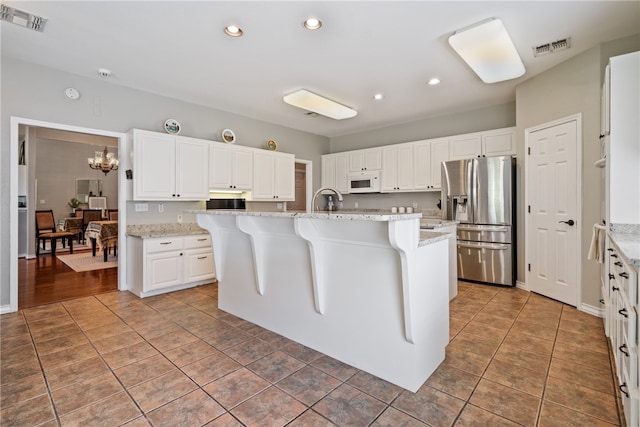
[[[576, 306], [580, 236], [577, 223], [578, 123], [572, 119], [526, 131], [527, 285]], [[529, 212], [530, 210], [530, 212]]]

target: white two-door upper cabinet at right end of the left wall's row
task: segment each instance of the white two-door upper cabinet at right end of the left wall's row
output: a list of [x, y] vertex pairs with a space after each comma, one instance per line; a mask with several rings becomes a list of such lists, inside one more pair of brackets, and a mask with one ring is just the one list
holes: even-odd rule
[[252, 200], [295, 200], [295, 156], [257, 150], [253, 156]]

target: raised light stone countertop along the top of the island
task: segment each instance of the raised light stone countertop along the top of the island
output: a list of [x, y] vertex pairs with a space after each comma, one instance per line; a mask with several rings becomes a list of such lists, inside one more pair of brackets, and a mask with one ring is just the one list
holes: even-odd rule
[[209, 210], [185, 210], [187, 213], [207, 214], [207, 215], [237, 215], [237, 216], [263, 216], [276, 218], [313, 218], [313, 219], [331, 219], [331, 220], [347, 220], [347, 221], [399, 221], [405, 219], [419, 219], [422, 213], [390, 213], [380, 211], [334, 211], [334, 212], [303, 212], [303, 211], [287, 211], [287, 212], [251, 212], [243, 210], [225, 210], [225, 209], [209, 209]]

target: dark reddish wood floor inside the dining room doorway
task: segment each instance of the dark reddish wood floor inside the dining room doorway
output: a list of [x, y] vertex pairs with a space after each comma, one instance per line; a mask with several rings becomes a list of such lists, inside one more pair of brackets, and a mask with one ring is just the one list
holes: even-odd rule
[[35, 307], [118, 289], [118, 269], [76, 273], [50, 255], [18, 260], [18, 308]]

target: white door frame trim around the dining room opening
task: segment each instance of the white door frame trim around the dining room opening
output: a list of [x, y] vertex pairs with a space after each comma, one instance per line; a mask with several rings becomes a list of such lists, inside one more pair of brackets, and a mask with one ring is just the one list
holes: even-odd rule
[[[78, 126], [64, 125], [59, 123], [43, 122], [39, 120], [31, 120], [26, 118], [12, 117], [11, 132], [10, 132], [11, 133], [11, 144], [10, 144], [11, 158], [15, 158], [15, 159], [19, 158], [19, 155], [18, 155], [19, 146], [20, 146], [19, 130], [21, 126], [45, 128], [45, 129], [52, 129], [52, 130], [59, 130], [59, 131], [82, 133], [82, 134], [94, 135], [94, 136], [106, 136], [106, 137], [116, 138], [118, 141], [117, 146], [118, 146], [119, 152], [121, 153], [126, 152], [126, 150], [123, 149], [123, 143], [125, 141], [126, 135], [122, 133], [91, 129], [91, 128], [82, 128]], [[120, 162], [120, 169], [117, 172], [113, 172], [118, 174], [117, 185], [118, 185], [119, 191], [118, 191], [118, 198], [117, 198], [117, 208], [121, 212], [119, 216], [118, 240], [122, 242], [125, 241], [125, 230], [126, 230], [126, 197], [123, 194], [124, 192], [120, 190], [124, 188], [124, 182], [125, 182], [124, 171], [128, 167], [129, 167], [128, 160], [126, 158], [122, 158]], [[9, 244], [9, 254], [10, 254], [9, 256], [11, 259], [10, 271], [9, 271], [10, 304], [9, 306], [1, 307], [0, 313], [9, 313], [9, 312], [17, 311], [18, 295], [20, 293], [19, 280], [18, 280], [19, 260], [18, 260], [18, 203], [17, 203], [18, 162], [17, 161], [11, 162], [10, 177], [11, 177], [10, 196], [12, 201], [16, 201], [16, 203], [10, 210], [10, 219], [9, 219], [10, 224], [12, 224], [12, 226], [10, 227], [11, 238], [10, 238], [10, 244]], [[46, 257], [51, 258], [49, 255], [46, 255]], [[24, 262], [24, 260], [22, 261]], [[42, 268], [51, 268], [51, 265], [47, 266], [47, 263], [45, 262], [44, 257], [38, 258], [36, 262], [39, 262], [41, 264], [39, 266], [41, 266]], [[21, 265], [21, 267], [23, 266]], [[125, 268], [126, 268], [126, 247], [125, 245], [121, 245], [118, 253], [118, 269], [117, 269], [118, 273], [116, 273], [117, 289], [119, 290], [126, 289], [125, 274], [123, 274], [126, 271]], [[104, 274], [104, 273], [100, 273], [100, 274]], [[82, 275], [78, 277], [79, 277], [79, 279], [77, 279], [78, 283], [84, 283], [86, 280], [90, 280], [90, 279], [87, 279], [87, 277], [83, 278]], [[100, 291], [97, 291], [96, 293], [99, 293], [99, 292]], [[61, 298], [68, 299], [68, 297], [66, 297], [66, 294]]]

